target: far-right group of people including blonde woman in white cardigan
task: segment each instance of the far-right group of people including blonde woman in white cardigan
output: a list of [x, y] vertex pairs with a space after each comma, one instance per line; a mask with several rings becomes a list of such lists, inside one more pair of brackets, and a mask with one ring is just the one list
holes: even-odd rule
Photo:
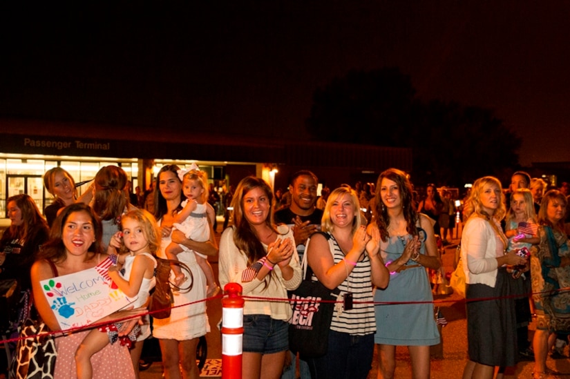
[[[473, 184], [461, 240], [466, 298], [472, 300], [463, 378], [502, 378], [505, 367], [529, 359], [533, 379], [559, 377], [547, 367], [547, 355], [564, 356], [570, 333], [570, 293], [563, 291], [570, 284], [568, 201], [562, 191], [523, 171], [513, 173], [508, 191], [495, 177]], [[480, 298], [492, 301], [473, 301]]]

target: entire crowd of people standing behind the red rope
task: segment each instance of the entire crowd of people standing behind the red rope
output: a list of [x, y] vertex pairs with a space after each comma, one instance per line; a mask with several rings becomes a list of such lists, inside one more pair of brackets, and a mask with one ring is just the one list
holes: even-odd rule
[[[100, 168], [81, 196], [63, 168], [47, 171], [44, 184], [53, 202], [43, 215], [28, 195], [7, 201], [11, 225], [0, 239], [0, 278], [17, 279], [22, 291], [31, 291], [38, 317], [52, 331], [60, 326], [41, 280], [113, 257], [108, 275], [137, 297], [129, 309], [99, 320], [109, 327], [55, 338], [57, 378], [137, 378], [151, 333], [160, 341], [165, 378], [198, 378], [193, 352], [209, 331], [200, 300], [229, 282], [239, 283], [243, 295], [265, 299], [245, 302], [244, 378], [289, 379], [296, 372], [303, 379], [367, 378], [374, 345], [379, 378], [394, 377], [397, 346], [408, 348], [412, 378], [430, 378], [430, 346], [440, 335], [428, 270], [441, 267], [437, 236], [453, 237], [457, 207], [448, 189], [428, 184], [419, 199], [409, 175], [390, 168], [376, 183], [323, 186], [318, 196], [319, 179], [303, 170], [285, 192], [249, 176], [216, 199], [198, 166], [175, 165], [160, 169], [146, 198], [132, 193], [118, 166]], [[570, 293], [560, 291], [570, 285], [569, 213], [560, 190], [519, 171], [506, 191], [497, 178], [482, 177], [464, 198], [464, 378], [501, 377], [525, 358], [535, 361], [533, 378], [555, 378], [547, 355], [563, 355], [570, 333]], [[226, 210], [219, 246], [216, 204]], [[218, 254], [219, 285], [207, 261]], [[173, 266], [172, 281], [191, 280], [191, 289], [173, 291], [169, 317], [154, 319], [152, 328], [149, 315], [116, 322], [145, 312], [155, 257], [186, 264], [191, 272]], [[289, 351], [292, 308], [267, 300], [287, 298], [301, 284], [303, 260], [312, 281], [338, 289], [344, 299], [334, 307], [327, 351], [316, 358]], [[479, 298], [492, 301], [473, 301]]]

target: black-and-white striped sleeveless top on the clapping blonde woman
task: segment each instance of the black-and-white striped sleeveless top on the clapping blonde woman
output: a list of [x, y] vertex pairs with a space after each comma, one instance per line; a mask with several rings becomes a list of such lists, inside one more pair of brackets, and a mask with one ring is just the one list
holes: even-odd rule
[[[330, 233], [329, 233], [330, 234]], [[330, 241], [334, 246], [334, 264], [342, 262], [343, 251], [339, 244], [330, 235]], [[343, 263], [341, 263], [343, 264]], [[350, 269], [348, 267], [347, 269]], [[312, 280], [316, 281], [313, 274]], [[350, 311], [343, 309], [342, 303], [336, 303], [330, 329], [340, 333], [348, 333], [352, 336], [365, 336], [376, 332], [376, 320], [374, 319], [374, 298], [372, 295], [372, 282], [370, 281], [370, 258], [364, 252], [364, 259], [354, 266], [348, 278], [342, 282], [338, 288], [341, 290], [342, 299], [344, 293], [352, 293], [353, 308]], [[361, 304], [360, 302], [365, 302]]]

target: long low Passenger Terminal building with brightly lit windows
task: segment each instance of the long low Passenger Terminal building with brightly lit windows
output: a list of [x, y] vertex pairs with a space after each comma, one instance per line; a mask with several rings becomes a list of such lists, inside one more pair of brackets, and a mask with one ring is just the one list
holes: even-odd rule
[[[196, 163], [210, 182], [234, 186], [246, 175], [264, 177], [287, 188], [290, 175], [314, 171], [319, 182], [335, 188], [357, 180], [375, 181], [388, 167], [412, 170], [408, 148], [387, 148], [252, 138], [244, 135], [196, 135], [187, 132], [28, 119], [0, 120], [0, 217], [6, 199], [28, 193], [43, 209], [51, 201], [43, 174], [61, 166], [75, 182], [93, 179], [100, 167], [121, 166], [133, 188], [149, 187], [163, 164]], [[84, 188], [86, 188], [85, 185]], [[79, 192], [83, 190], [79, 187]]]

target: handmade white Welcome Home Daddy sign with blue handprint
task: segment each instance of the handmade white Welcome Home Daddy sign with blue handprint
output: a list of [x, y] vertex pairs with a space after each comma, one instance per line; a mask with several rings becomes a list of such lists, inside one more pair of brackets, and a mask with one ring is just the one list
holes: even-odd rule
[[128, 298], [111, 280], [111, 264], [106, 258], [93, 269], [40, 282], [62, 330], [92, 324], [136, 300]]

